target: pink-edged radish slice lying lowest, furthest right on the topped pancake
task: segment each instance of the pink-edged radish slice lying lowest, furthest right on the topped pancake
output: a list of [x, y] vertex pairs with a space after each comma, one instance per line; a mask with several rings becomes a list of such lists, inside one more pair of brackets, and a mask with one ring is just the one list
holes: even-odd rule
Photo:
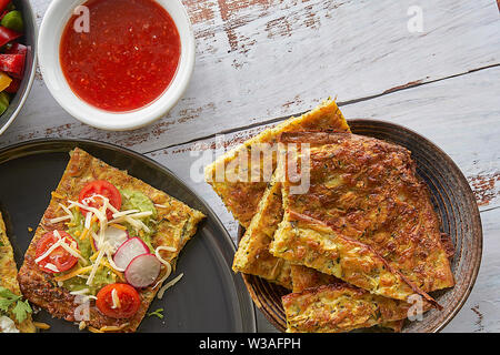
[[136, 256], [127, 266], [124, 276], [127, 282], [137, 288], [151, 285], [160, 275], [161, 263], [153, 254]]

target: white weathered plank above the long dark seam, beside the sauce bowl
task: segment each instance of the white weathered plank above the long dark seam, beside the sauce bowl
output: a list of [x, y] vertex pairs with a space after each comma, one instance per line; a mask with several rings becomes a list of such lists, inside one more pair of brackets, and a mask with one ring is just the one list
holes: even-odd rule
[[[33, 0], [39, 20], [49, 0]], [[169, 114], [133, 132], [94, 130], [69, 116], [38, 77], [0, 145], [81, 136], [140, 152], [390, 92], [500, 62], [493, 0], [421, 0], [423, 32], [410, 32], [414, 1], [184, 0], [198, 43], [192, 83]]]

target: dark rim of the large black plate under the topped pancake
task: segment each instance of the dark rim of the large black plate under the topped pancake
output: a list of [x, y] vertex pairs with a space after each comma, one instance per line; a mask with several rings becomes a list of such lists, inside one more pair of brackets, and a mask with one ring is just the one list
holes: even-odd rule
[[[90, 145], [93, 145], [93, 146], [97, 146], [97, 148], [104, 148], [104, 149], [110, 149], [110, 150], [118, 151], [119, 153], [123, 153], [123, 154], [127, 154], [129, 156], [132, 156], [133, 159], [142, 161], [143, 163], [149, 163], [149, 164], [153, 165], [156, 169], [160, 170], [162, 173], [166, 173], [167, 175], [170, 175], [171, 179], [177, 180], [187, 191], [189, 191], [196, 197], [196, 200], [198, 200], [200, 205], [203, 206], [203, 209], [204, 209], [203, 212], [207, 214], [207, 219], [210, 219], [211, 221], [214, 222], [214, 225], [217, 226], [217, 229], [220, 232], [220, 233], [218, 233], [218, 237], [222, 237], [223, 241], [227, 242], [230, 245], [231, 252], [233, 254], [236, 253], [237, 247], [234, 245], [234, 242], [232, 241], [231, 236], [229, 235], [229, 232], [227, 231], [226, 226], [222, 224], [222, 222], [217, 216], [214, 211], [210, 207], [210, 205], [207, 203], [207, 201], [203, 197], [201, 197], [194, 190], [189, 187], [189, 185], [184, 182], [184, 180], [179, 178], [169, 168], [167, 168], [163, 164], [157, 162], [156, 160], [153, 160], [153, 159], [151, 159], [149, 156], [146, 156], [144, 154], [141, 154], [139, 152], [136, 152], [136, 151], [133, 151], [131, 149], [128, 149], [128, 148], [124, 148], [124, 146], [120, 146], [120, 145], [117, 145], [117, 144], [113, 144], [113, 143], [109, 143], [109, 142], [101, 142], [101, 141], [92, 140], [92, 139], [39, 138], [39, 139], [32, 139], [32, 140], [28, 140], [28, 141], [12, 143], [12, 144], [9, 144], [9, 145], [0, 148], [0, 165], [3, 164], [3, 163], [7, 163], [9, 161], [16, 160], [18, 158], [24, 158], [24, 156], [34, 155], [34, 154], [43, 154], [43, 153], [53, 153], [53, 152], [56, 152], [56, 150], [53, 150], [53, 149], [52, 150], [47, 150], [47, 151], [34, 150], [34, 151], [26, 152], [24, 154], [16, 154], [13, 156], [9, 156], [7, 159], [2, 159], [3, 155], [8, 154], [11, 151], [20, 150], [20, 149], [23, 149], [23, 148], [26, 149], [26, 148], [29, 148], [30, 145], [66, 144], [66, 145], [74, 145], [74, 146], [77, 146], [78, 143], [90, 144]], [[60, 152], [64, 151], [62, 148], [64, 148], [64, 146], [61, 146]], [[68, 150], [68, 152], [69, 152], [69, 150]], [[228, 266], [230, 268], [231, 265], [228, 264]], [[244, 282], [242, 282], [241, 285], [238, 285], [237, 283], [234, 283], [234, 287], [236, 287], [236, 291], [237, 291], [237, 298], [238, 298], [237, 301], [238, 301], [238, 304], [240, 305], [240, 308], [243, 310], [243, 307], [246, 307], [249, 311], [248, 314], [243, 314], [242, 312], [240, 313], [242, 332], [257, 333], [256, 307], [253, 305], [252, 298], [250, 297], [250, 295], [247, 292], [247, 287], [244, 285]], [[240, 288], [242, 288], [242, 290], [240, 290]], [[242, 297], [244, 297], [247, 300], [243, 300]], [[243, 304], [243, 302], [246, 302], [247, 304]], [[248, 318], [248, 316], [250, 316], [250, 318]]]

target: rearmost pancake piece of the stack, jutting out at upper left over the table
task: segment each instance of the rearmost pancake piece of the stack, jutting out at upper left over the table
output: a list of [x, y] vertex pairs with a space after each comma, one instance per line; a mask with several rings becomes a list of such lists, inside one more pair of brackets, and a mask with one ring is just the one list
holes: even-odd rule
[[[274, 128], [264, 130], [206, 168], [206, 181], [212, 185], [227, 209], [242, 226], [248, 227], [250, 225], [251, 219], [257, 213], [259, 201], [262, 199], [276, 169], [276, 154], [269, 161], [270, 169], [266, 171], [261, 169], [264, 164], [263, 158], [253, 165], [250, 163], [252, 152], [256, 153], [266, 144], [271, 148], [274, 146], [278, 136], [283, 132], [301, 131], [350, 132], [336, 102], [329, 100], [299, 118], [290, 118]], [[260, 154], [258, 155], [260, 158]], [[248, 162], [247, 168], [236, 166], [230, 169], [239, 160], [243, 163]], [[256, 173], [256, 171], [257, 179], [252, 179], [252, 172]], [[238, 178], [234, 179], [233, 175]]]

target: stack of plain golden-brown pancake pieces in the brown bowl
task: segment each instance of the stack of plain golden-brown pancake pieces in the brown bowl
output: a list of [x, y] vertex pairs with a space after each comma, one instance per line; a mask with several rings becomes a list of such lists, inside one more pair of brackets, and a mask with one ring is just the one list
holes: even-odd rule
[[334, 101], [220, 156], [206, 180], [246, 229], [233, 270], [290, 291], [288, 332], [398, 332], [454, 284], [411, 152], [352, 134]]

